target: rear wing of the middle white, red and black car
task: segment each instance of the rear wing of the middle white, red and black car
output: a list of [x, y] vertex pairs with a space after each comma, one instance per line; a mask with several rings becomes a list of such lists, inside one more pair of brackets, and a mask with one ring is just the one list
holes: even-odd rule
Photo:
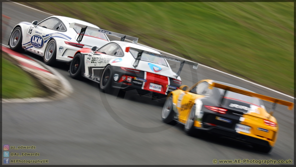
[[139, 49], [136, 49], [136, 48], [131, 48], [131, 49], [136, 50], [136, 51], [139, 52], [139, 54], [138, 54], [138, 56], [136, 58], [136, 61], [133, 64], [133, 66], [135, 68], [138, 66], [139, 61], [141, 59], [141, 56], [143, 54], [148, 54], [148, 55], [151, 55], [151, 56], [161, 57], [163, 59], [167, 59], [167, 60], [171, 60], [171, 61], [175, 61], [175, 62], [180, 62], [181, 64], [180, 64], [179, 70], [175, 75], [176, 78], [178, 78], [178, 76], [180, 75], [185, 62], [186, 62], [186, 64], [192, 65], [194, 69], [197, 69], [197, 67], [198, 67], [198, 63], [192, 62], [192, 61], [189, 61], [189, 60], [179, 59], [179, 58], [176, 58], [176, 57], [166, 56], [166, 55], [163, 55], [163, 54], [157, 54], [157, 53], [152, 53], [152, 52], [148, 52], [148, 51], [143, 51], [143, 50], [139, 50]]

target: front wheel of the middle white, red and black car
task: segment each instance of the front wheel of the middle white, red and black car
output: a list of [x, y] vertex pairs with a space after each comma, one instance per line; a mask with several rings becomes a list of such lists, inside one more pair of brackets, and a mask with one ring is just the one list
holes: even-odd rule
[[73, 60], [71, 61], [70, 64], [70, 77], [74, 78], [74, 79], [81, 79], [81, 69], [82, 69], [82, 55], [81, 53], [77, 53], [75, 54], [75, 56], [73, 57]]

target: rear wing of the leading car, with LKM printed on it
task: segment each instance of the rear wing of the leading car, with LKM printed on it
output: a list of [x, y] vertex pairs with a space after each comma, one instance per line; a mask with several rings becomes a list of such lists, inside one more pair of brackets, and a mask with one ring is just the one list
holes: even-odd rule
[[128, 39], [128, 40], [132, 40], [133, 43], [138, 42], [138, 38], [136, 38], [136, 37], [131, 37], [131, 36], [128, 36], [128, 35], [119, 34], [119, 33], [112, 32], [112, 31], [98, 29], [98, 28], [95, 28], [95, 27], [86, 26], [86, 25], [78, 24], [78, 23], [70, 23], [70, 25], [69, 25], [70, 28], [74, 28], [74, 26], [81, 27], [81, 31], [80, 31], [77, 39], [76, 39], [78, 43], [80, 43], [82, 41], [82, 38], [84, 36], [84, 33], [85, 33], [86, 29], [89, 29], [89, 30], [92, 30], [92, 31], [98, 31], [98, 32], [101, 32], [101, 33], [104, 33], [104, 34], [115, 36], [115, 37], [119, 37], [120, 41], [124, 41], [125, 39]]

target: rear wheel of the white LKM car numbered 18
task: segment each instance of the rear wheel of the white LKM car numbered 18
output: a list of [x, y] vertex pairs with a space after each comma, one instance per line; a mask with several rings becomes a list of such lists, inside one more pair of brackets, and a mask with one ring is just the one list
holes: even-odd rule
[[47, 65], [54, 65], [57, 62], [57, 43], [54, 39], [50, 40], [45, 48], [44, 63]]

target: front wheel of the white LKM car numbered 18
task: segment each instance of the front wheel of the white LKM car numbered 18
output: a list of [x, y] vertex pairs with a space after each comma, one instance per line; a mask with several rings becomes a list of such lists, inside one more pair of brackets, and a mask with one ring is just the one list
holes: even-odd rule
[[15, 28], [9, 38], [9, 48], [13, 51], [22, 51], [22, 29]]

